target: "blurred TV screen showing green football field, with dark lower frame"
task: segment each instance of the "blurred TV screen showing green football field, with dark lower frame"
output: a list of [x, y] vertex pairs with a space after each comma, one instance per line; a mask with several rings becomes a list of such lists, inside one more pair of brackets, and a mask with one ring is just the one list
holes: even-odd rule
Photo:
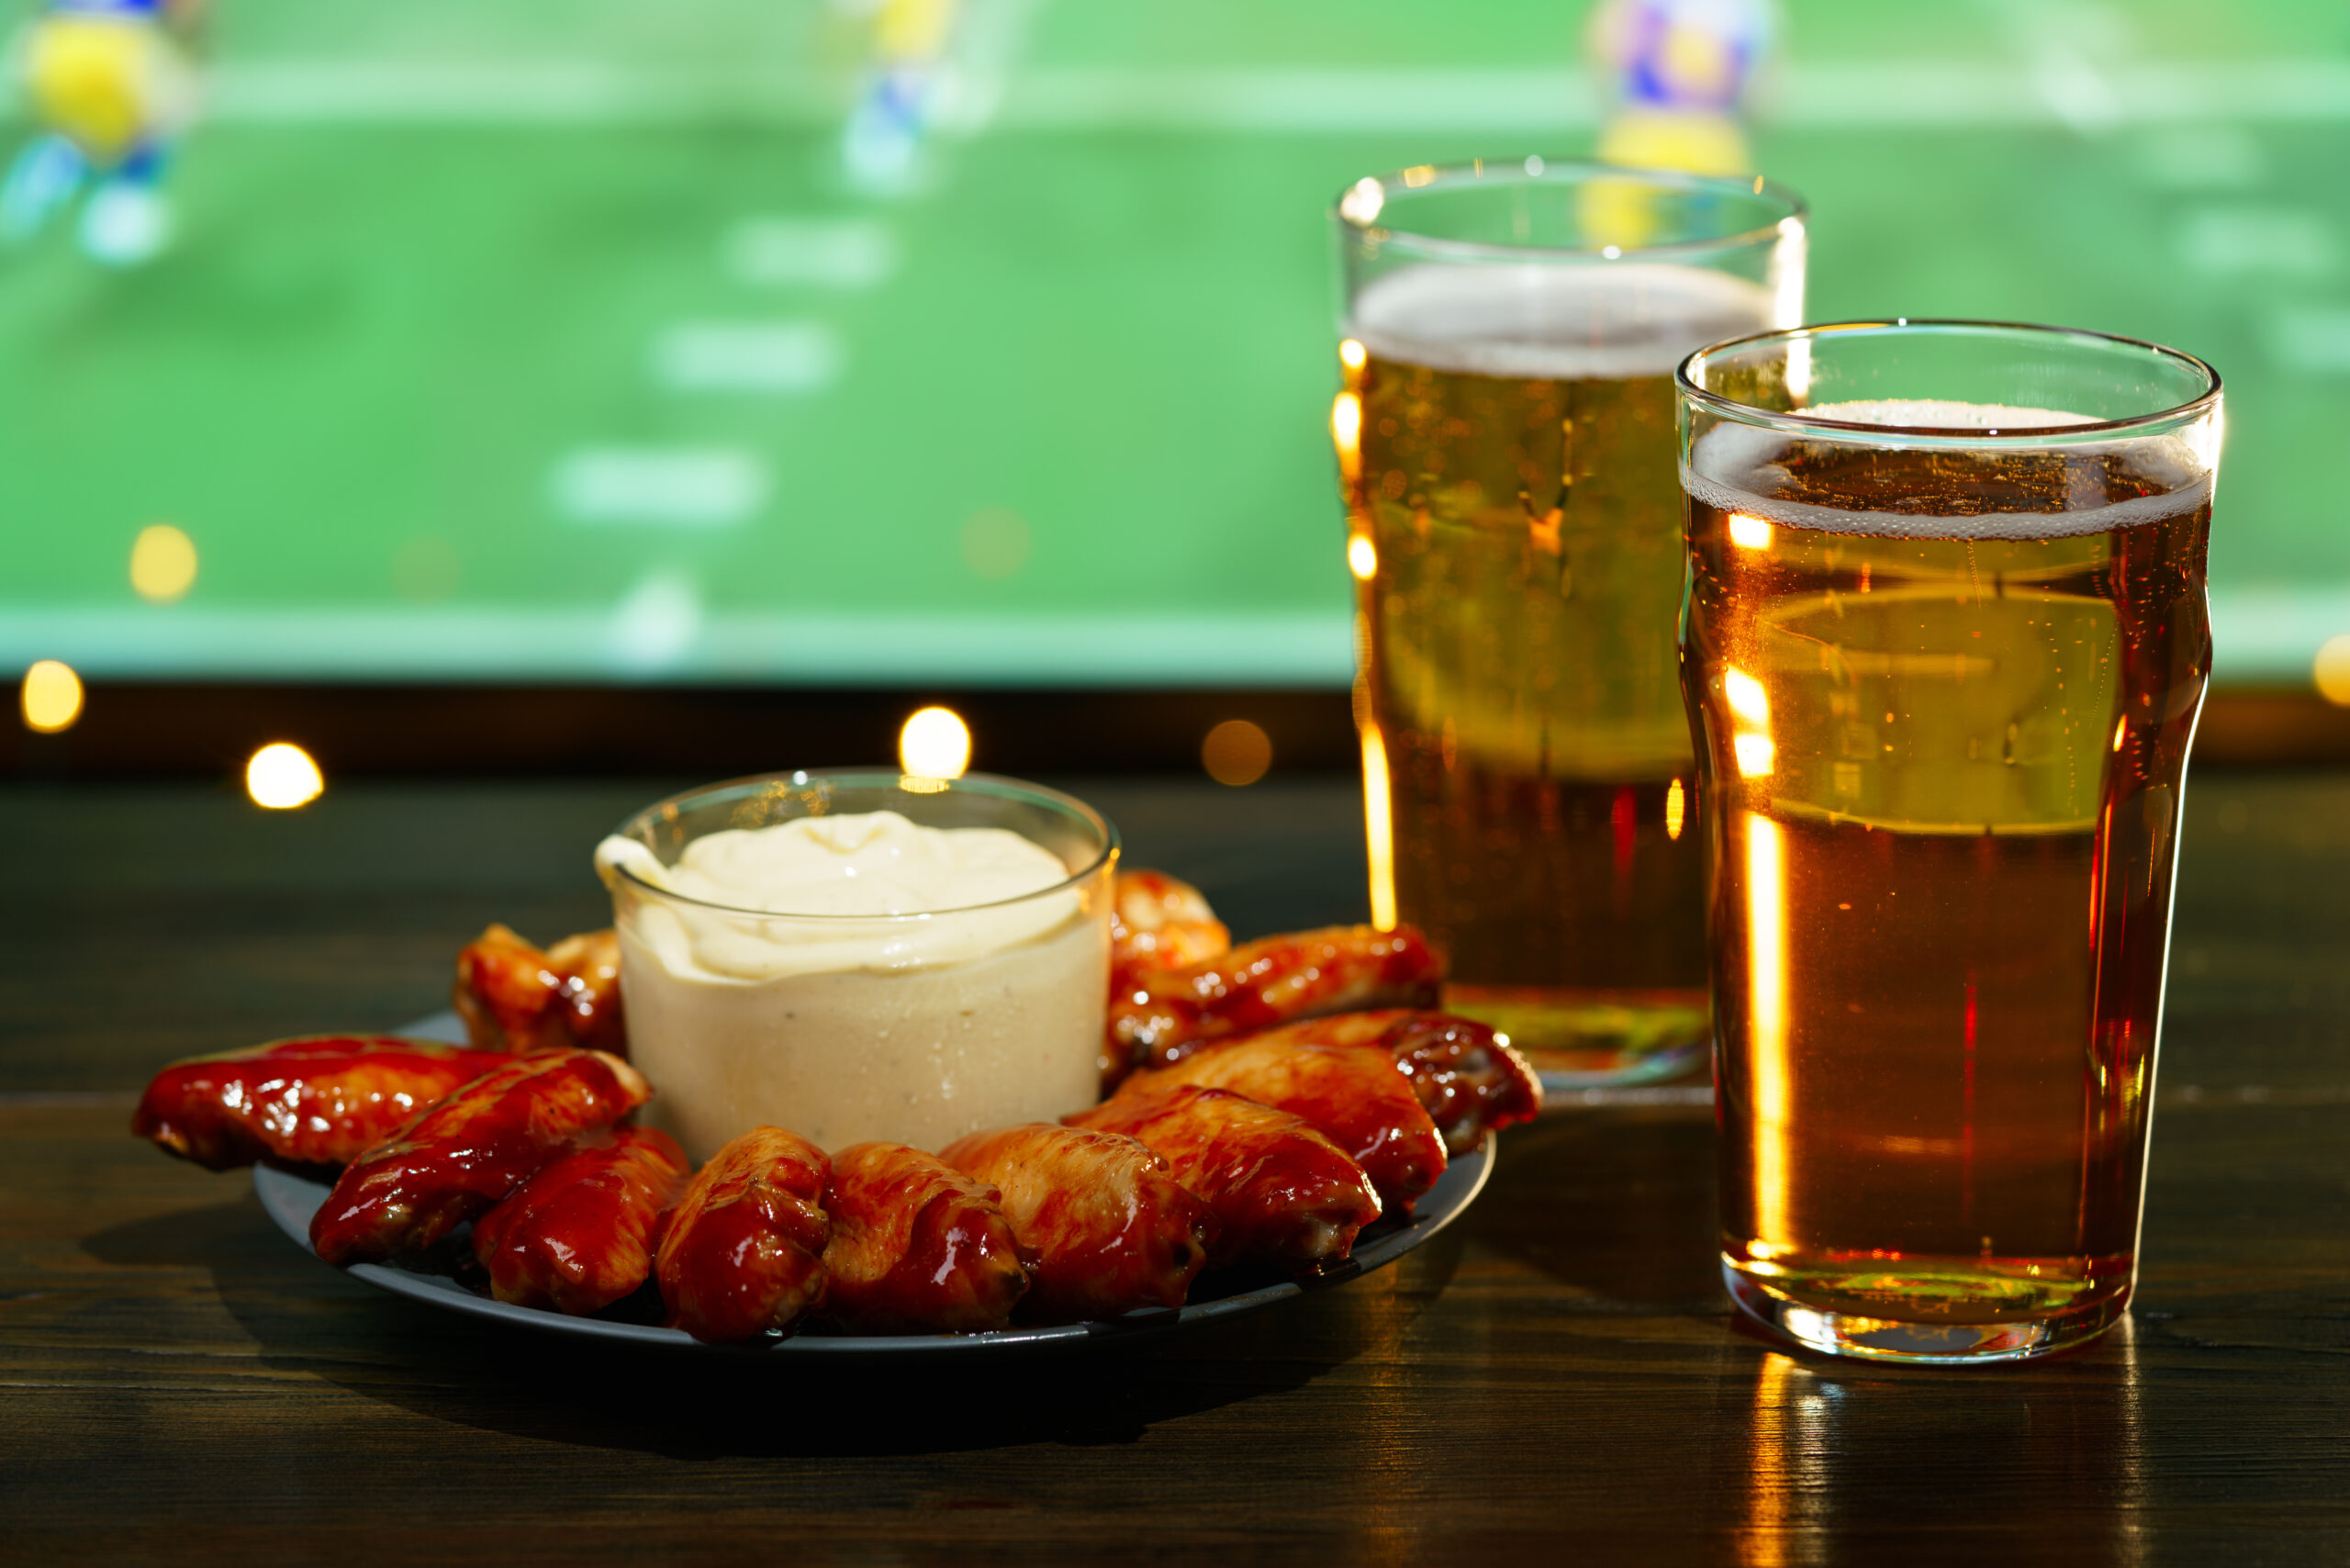
[[2350, 750], [2350, 12], [1640, 9], [19, 0], [0, 762], [1349, 766], [1325, 209], [1603, 143], [2218, 364], [2207, 752]]

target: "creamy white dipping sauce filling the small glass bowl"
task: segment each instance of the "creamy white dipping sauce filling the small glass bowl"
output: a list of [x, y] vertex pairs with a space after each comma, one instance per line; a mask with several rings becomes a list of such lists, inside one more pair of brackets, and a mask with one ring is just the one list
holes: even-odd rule
[[1097, 1098], [1109, 900], [1018, 832], [872, 811], [595, 858], [646, 1119], [696, 1161], [759, 1124], [938, 1150]]

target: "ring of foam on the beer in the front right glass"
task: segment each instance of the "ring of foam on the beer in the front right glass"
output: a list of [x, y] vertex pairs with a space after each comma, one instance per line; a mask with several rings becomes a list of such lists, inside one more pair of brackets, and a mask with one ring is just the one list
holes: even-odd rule
[[[1849, 425], [1906, 425], [1911, 430], [1948, 430], [1953, 435], [1974, 430], [1986, 435], [1995, 430], [2061, 430], [2066, 425], [2099, 423], [2092, 414], [2070, 414], [2066, 409], [1946, 402], [1939, 397], [1821, 402], [1802, 409], [1802, 414]], [[1838, 430], [1833, 437], [1824, 435], [1821, 440], [1887, 449], [1904, 447], [1901, 437], [1892, 430]], [[2211, 498], [2211, 470], [2195, 458], [2181, 437], [2138, 435], [2115, 442], [2082, 442], [2066, 447], [2066, 451], [2077, 456], [2127, 456], [2136, 473], [2169, 484], [2160, 496], [2101, 501], [2066, 512], [1856, 512], [1812, 501], [1781, 501], [1772, 494], [1795, 487], [1793, 475], [1779, 465], [1779, 454], [1791, 444], [1793, 440], [1779, 430], [1725, 421], [1697, 437], [1690, 461], [1680, 465], [1680, 482], [1694, 498], [1720, 512], [1746, 512], [1791, 529], [1875, 534], [1885, 538], [2073, 538], [2181, 517]]]

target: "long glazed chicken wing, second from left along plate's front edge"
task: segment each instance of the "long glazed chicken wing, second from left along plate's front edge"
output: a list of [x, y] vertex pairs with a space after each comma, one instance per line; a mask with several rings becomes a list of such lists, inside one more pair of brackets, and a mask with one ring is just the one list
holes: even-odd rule
[[634, 1067], [602, 1051], [505, 1058], [350, 1161], [310, 1215], [310, 1246], [338, 1267], [432, 1246], [562, 1145], [651, 1093]]

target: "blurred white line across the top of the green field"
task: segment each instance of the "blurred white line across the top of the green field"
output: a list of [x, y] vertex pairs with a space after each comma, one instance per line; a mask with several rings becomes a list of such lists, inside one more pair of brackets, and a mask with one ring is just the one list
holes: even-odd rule
[[[2350, 120], [2350, 59], [2115, 66], [2094, 115], [2077, 85], [2000, 61], [1793, 63], [1762, 125], [2106, 129]], [[221, 125], [606, 127], [834, 125], [853, 82], [808, 71], [677, 71], [618, 61], [230, 61], [207, 73]], [[2110, 89], [2110, 96], [2108, 96]], [[9, 92], [5, 110], [21, 115]], [[1603, 110], [1577, 68], [1015, 68], [987, 115], [1022, 132], [1546, 132]], [[2087, 125], [2094, 120], [2094, 125]]]

